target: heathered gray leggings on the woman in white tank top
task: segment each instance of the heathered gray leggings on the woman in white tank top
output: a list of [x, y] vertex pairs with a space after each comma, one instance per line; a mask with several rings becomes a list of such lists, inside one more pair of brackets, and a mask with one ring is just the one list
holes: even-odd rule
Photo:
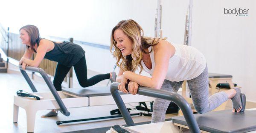
[[[172, 82], [164, 80], [160, 90], [177, 92], [180, 89], [183, 81]], [[212, 111], [219, 105], [227, 101], [228, 96], [225, 92], [221, 91], [215, 93], [208, 98], [209, 84], [208, 84], [208, 69], [205, 67], [204, 71], [197, 78], [187, 81], [189, 85], [189, 91], [194, 103], [195, 110], [200, 114], [204, 114], [208, 111]], [[153, 116], [152, 123], [164, 122], [165, 113], [170, 104], [170, 101], [156, 98], [153, 104]]]

